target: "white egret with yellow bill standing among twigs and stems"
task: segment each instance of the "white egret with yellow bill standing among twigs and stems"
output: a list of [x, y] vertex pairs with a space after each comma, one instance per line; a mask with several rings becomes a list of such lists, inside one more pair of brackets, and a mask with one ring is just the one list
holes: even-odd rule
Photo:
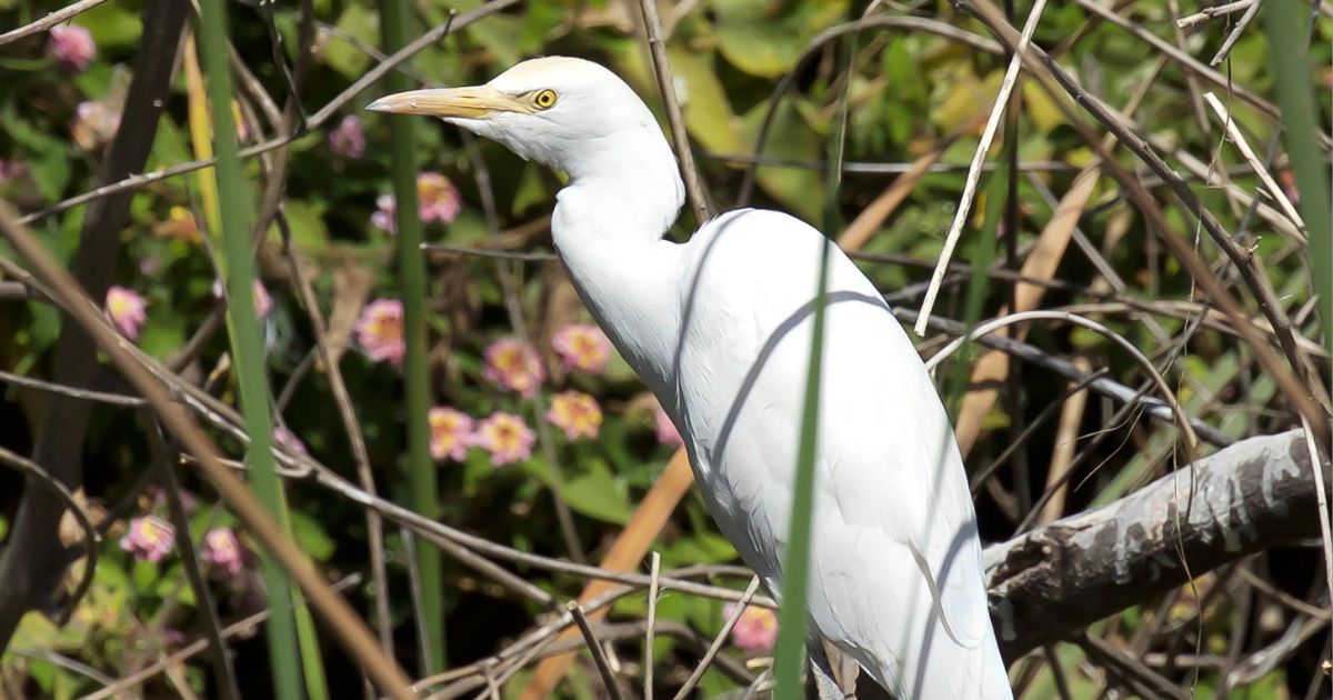
[[761, 209], [664, 240], [685, 196], [676, 159], [643, 100], [595, 63], [533, 59], [485, 85], [369, 109], [440, 117], [569, 175], [551, 221], [560, 260], [680, 428], [722, 533], [774, 595], [828, 249], [809, 620], [902, 700], [1012, 697], [948, 416], [841, 251]]

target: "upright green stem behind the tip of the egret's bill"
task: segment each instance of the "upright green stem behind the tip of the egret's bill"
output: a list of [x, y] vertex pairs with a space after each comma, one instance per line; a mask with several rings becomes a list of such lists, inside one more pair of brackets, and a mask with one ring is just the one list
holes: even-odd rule
[[[408, 0], [387, 0], [383, 5], [381, 31], [384, 49], [393, 52], [407, 44], [412, 5]], [[407, 76], [391, 72], [384, 77], [389, 92], [411, 89]], [[403, 283], [403, 332], [407, 341], [404, 381], [407, 383], [408, 480], [412, 508], [425, 517], [439, 517], [440, 501], [435, 464], [431, 461], [431, 376], [425, 345], [425, 257], [421, 253], [421, 220], [417, 217], [416, 192], [416, 121], [396, 119], [391, 123], [393, 152], [393, 196], [397, 201], [399, 280]], [[427, 648], [423, 675], [444, 671], [444, 603], [440, 575], [440, 552], [417, 548], [417, 571], [421, 577], [421, 621]], [[383, 593], [381, 593], [383, 595]]]

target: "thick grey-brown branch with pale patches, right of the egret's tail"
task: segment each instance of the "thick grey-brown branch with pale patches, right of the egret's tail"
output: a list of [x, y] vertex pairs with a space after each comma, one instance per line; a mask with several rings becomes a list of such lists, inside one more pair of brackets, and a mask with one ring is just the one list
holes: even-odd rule
[[1236, 443], [1109, 505], [988, 547], [1001, 652], [1013, 660], [1222, 564], [1318, 537], [1317, 516], [1305, 437], [1290, 431]]

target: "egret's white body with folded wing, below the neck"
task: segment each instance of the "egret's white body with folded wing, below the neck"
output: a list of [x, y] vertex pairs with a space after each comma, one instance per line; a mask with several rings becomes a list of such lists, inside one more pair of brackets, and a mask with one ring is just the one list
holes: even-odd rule
[[[824, 237], [741, 211], [685, 245], [676, 405], [724, 533], [780, 592]], [[1012, 697], [962, 460], [920, 357], [829, 247], [809, 615], [901, 699]]]

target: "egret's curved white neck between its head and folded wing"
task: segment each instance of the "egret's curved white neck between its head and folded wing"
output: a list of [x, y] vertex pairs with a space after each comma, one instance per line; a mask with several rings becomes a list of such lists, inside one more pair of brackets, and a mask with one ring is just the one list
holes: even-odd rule
[[571, 168], [551, 231], [575, 289], [616, 348], [663, 400], [680, 329], [681, 252], [663, 235], [684, 185], [656, 129], [615, 132]]

